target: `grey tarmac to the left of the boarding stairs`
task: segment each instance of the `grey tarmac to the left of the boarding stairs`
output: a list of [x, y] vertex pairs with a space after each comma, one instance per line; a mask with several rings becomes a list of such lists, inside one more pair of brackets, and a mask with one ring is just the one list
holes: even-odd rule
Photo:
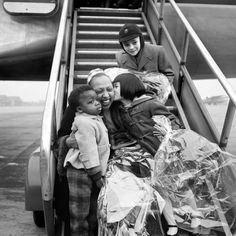
[[28, 158], [39, 146], [41, 119], [42, 108], [0, 111], [0, 236], [46, 235], [25, 210], [24, 190]]

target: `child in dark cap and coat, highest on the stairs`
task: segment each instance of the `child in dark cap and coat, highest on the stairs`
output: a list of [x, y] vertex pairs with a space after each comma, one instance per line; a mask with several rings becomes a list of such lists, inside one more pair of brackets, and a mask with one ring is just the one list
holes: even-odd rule
[[145, 43], [141, 29], [136, 24], [125, 24], [119, 31], [122, 51], [116, 53], [119, 67], [135, 71], [159, 72], [174, 81], [174, 72], [161, 45]]

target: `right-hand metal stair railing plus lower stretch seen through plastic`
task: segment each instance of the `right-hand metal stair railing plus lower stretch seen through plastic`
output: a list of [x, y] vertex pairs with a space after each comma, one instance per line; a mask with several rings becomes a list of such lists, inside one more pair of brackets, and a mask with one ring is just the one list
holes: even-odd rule
[[[226, 80], [226, 77], [224, 76], [224, 74], [222, 73], [222, 71], [220, 70], [220, 68], [218, 67], [216, 62], [214, 61], [214, 59], [211, 57], [208, 50], [205, 48], [205, 46], [203, 45], [203, 43], [201, 42], [201, 40], [199, 39], [199, 37], [197, 36], [195, 31], [193, 30], [193, 28], [191, 27], [191, 25], [186, 20], [183, 13], [180, 11], [178, 6], [176, 5], [175, 1], [174, 0], [169, 0], [170, 5], [174, 9], [175, 13], [177, 13], [179, 19], [181, 20], [181, 22], [183, 23], [183, 25], [185, 27], [185, 34], [184, 34], [183, 47], [182, 47], [181, 55], [178, 53], [171, 37], [169, 36], [169, 33], [168, 33], [168, 31], [165, 27], [164, 21], [163, 21], [165, 1], [160, 0], [160, 5], [159, 5], [159, 9], [160, 9], [159, 12], [160, 13], [158, 12], [157, 2], [155, 0], [154, 0], [154, 2], [153, 2], [153, 0], [148, 0], [148, 1], [151, 5], [153, 5], [153, 7], [155, 7], [156, 15], [158, 15], [159, 27], [160, 27], [158, 35], [160, 36], [162, 34], [162, 30], [163, 30], [163, 32], [165, 33], [165, 36], [168, 40], [168, 43], [169, 43], [169, 45], [172, 49], [172, 52], [173, 52], [173, 54], [174, 54], [174, 56], [175, 56], [175, 58], [176, 58], [176, 60], [179, 64], [179, 71], [184, 74], [185, 78], [187, 80], [191, 80], [191, 77], [190, 77], [190, 75], [188, 73], [188, 70], [186, 68], [186, 61], [187, 61], [187, 55], [188, 55], [188, 49], [189, 49], [189, 40], [191, 38], [193, 40], [193, 42], [195, 43], [195, 45], [197, 46], [200, 53], [202, 54], [202, 56], [205, 59], [206, 63], [208, 64], [208, 66], [210, 67], [210, 69], [212, 70], [212, 72], [214, 73], [214, 75], [216, 76], [216, 78], [218, 79], [220, 84], [222, 85], [224, 91], [228, 94], [230, 101], [229, 101], [229, 104], [228, 104], [228, 110], [227, 110], [227, 113], [226, 113], [226, 116], [225, 116], [225, 121], [224, 121], [224, 126], [223, 126], [223, 129], [222, 129], [222, 132], [221, 132], [221, 136], [218, 139], [219, 146], [221, 148], [225, 148], [226, 145], [227, 145], [228, 136], [229, 136], [229, 133], [230, 133], [230, 130], [231, 130], [231, 127], [232, 127], [233, 118], [234, 118], [234, 114], [235, 114], [236, 94], [234, 93], [231, 85]], [[158, 41], [160, 42], [160, 39]], [[189, 85], [190, 85], [190, 88], [191, 88], [190, 83], [189, 83]], [[194, 96], [199, 96], [199, 95], [197, 95], [197, 93], [194, 92], [194, 89], [192, 89], [192, 92], [194, 93]], [[212, 130], [212, 131], [214, 133], [214, 130]], [[215, 190], [214, 190], [212, 184], [209, 181], [206, 181], [206, 184], [209, 188], [209, 191], [211, 193], [214, 193]], [[222, 222], [222, 227], [224, 229], [225, 235], [232, 236], [230, 227], [227, 224], [226, 217], [222, 213], [220, 203], [216, 199], [213, 199], [213, 202], [216, 206], [217, 213], [218, 213], [219, 218]]]

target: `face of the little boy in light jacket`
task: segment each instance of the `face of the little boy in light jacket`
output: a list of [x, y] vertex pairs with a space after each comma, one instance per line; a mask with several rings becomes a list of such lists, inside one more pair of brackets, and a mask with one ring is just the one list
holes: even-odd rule
[[102, 111], [101, 103], [97, 100], [98, 96], [95, 91], [89, 90], [80, 96], [80, 105], [77, 111], [90, 115], [98, 115]]

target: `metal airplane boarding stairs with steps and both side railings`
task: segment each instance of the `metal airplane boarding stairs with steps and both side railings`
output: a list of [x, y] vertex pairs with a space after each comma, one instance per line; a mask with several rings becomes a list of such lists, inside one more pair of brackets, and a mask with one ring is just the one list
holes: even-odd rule
[[[73, 14], [69, 11], [68, 17], [67, 11], [71, 2], [64, 0], [45, 104], [40, 151], [32, 155], [29, 160], [26, 181], [26, 208], [31, 211], [44, 211], [47, 235], [55, 235], [53, 203], [56, 196], [54, 195], [55, 157], [53, 143], [57, 138], [56, 133], [67, 106], [68, 95], [73, 88], [86, 83], [90, 70], [117, 67], [115, 53], [121, 49], [118, 42], [118, 32], [125, 23], [137, 24], [147, 43], [159, 43], [166, 48], [176, 75], [176, 82], [171, 86], [171, 95], [166, 104], [169, 110], [179, 116], [187, 129], [191, 128], [218, 145], [222, 144], [223, 148], [226, 146], [224, 139], [227, 138], [230, 131], [236, 98], [226, 84], [225, 78], [221, 74], [218, 75], [218, 67], [214, 65], [211, 58], [208, 58], [207, 52], [202, 50], [202, 53], [207, 55], [205, 58], [208, 64], [216, 71], [215, 74], [219, 80], [222, 80], [223, 87], [230, 97], [225, 128], [220, 138], [185, 66], [190, 36], [194, 38], [198, 46], [200, 45], [199, 50], [202, 49], [197, 36], [189, 26], [186, 26], [184, 46], [182, 54], [179, 55], [162, 21], [162, 15], [158, 15], [158, 7], [151, 0], [144, 2], [143, 9], [80, 8], [76, 9]], [[170, 0], [170, 2], [173, 2], [173, 7], [178, 12], [174, 1]], [[179, 12], [178, 14], [183, 17]], [[71, 19], [73, 19], [72, 24]], [[185, 21], [183, 22], [185, 23]], [[185, 24], [187, 25], [187, 23]], [[63, 43], [65, 51], [63, 51]], [[35, 178], [37, 181], [32, 182], [30, 178], [32, 175], [36, 175], [41, 181]], [[208, 188], [212, 190], [210, 183]], [[35, 189], [38, 190], [37, 197], [31, 202]], [[217, 206], [220, 209], [219, 204]], [[226, 222], [223, 214], [221, 214], [221, 220]], [[227, 224], [224, 226], [224, 231], [225, 235], [232, 236]]]

